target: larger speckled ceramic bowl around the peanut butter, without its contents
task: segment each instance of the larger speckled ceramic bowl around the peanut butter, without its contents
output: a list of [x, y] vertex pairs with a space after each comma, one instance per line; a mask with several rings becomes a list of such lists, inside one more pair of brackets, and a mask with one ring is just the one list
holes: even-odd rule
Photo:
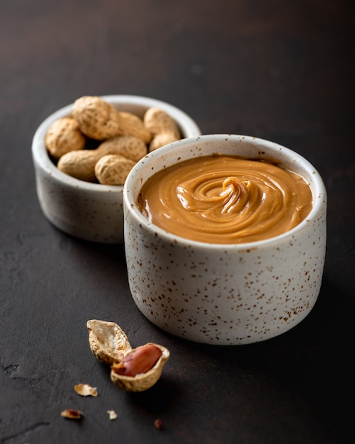
[[[152, 174], [214, 152], [276, 159], [301, 174], [312, 190], [308, 217], [269, 240], [218, 245], [172, 235], [142, 215], [137, 196]], [[166, 145], [130, 172], [123, 204], [130, 291], [138, 309], [164, 331], [198, 343], [255, 343], [293, 328], [314, 306], [325, 262], [327, 195], [320, 174], [288, 148], [241, 135]]]

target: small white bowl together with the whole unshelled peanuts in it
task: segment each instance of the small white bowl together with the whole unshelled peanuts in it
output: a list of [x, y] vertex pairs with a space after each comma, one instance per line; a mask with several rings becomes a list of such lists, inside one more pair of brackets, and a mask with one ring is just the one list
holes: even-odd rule
[[52, 225], [76, 238], [123, 243], [123, 185], [149, 152], [200, 135], [181, 109], [144, 96], [81, 96], [33, 136], [38, 201]]

